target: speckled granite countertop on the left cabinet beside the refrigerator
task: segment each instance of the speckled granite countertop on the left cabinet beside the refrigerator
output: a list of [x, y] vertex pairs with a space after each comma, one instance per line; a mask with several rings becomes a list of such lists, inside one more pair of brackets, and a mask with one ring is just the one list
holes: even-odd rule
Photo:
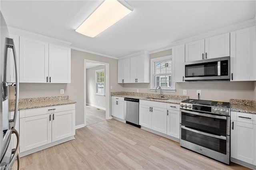
[[[68, 96], [54, 96], [54, 97], [42, 97], [42, 98], [26, 98], [19, 99], [18, 109], [32, 109], [38, 107], [57, 106], [64, 104], [74, 104], [73, 100], [69, 100]], [[9, 111], [14, 111], [15, 100], [9, 101]]]

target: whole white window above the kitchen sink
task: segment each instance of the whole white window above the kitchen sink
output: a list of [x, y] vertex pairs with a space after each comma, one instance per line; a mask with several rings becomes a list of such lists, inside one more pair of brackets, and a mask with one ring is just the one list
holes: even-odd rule
[[163, 91], [174, 91], [174, 68], [172, 56], [159, 57], [151, 59], [151, 90], [160, 86]]

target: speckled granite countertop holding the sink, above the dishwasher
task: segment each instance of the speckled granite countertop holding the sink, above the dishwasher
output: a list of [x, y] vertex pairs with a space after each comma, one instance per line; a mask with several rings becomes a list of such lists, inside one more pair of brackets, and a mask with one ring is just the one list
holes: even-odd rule
[[140, 100], [150, 100], [155, 102], [173, 103], [180, 104], [182, 100], [188, 99], [188, 96], [178, 96], [178, 95], [163, 95], [164, 99], [167, 100], [157, 100], [157, 99], [146, 99], [146, 97], [160, 98], [160, 94], [152, 93], [134, 93], [134, 92], [111, 92], [111, 96], [123, 97], [123, 98], [134, 98]]

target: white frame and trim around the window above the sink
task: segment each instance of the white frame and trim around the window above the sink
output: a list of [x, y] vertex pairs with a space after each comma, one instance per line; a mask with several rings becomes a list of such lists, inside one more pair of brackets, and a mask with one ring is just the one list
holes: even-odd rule
[[[156, 62], [163, 62], [163, 61], [172, 61], [172, 86], [171, 87], [161, 87], [162, 92], [176, 92], [175, 82], [174, 82], [174, 57], [172, 55], [167, 55], [164, 57], [157, 57], [154, 59], [150, 59], [150, 91], [155, 91], [156, 87], [154, 87], [154, 71], [155, 71], [155, 64]], [[163, 74], [166, 75], [166, 74]]]

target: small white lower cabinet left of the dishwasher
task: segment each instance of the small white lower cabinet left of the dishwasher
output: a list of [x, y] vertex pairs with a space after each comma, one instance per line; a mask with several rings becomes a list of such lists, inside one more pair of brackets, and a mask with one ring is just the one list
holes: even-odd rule
[[124, 119], [124, 98], [112, 96], [111, 115], [120, 119]]

